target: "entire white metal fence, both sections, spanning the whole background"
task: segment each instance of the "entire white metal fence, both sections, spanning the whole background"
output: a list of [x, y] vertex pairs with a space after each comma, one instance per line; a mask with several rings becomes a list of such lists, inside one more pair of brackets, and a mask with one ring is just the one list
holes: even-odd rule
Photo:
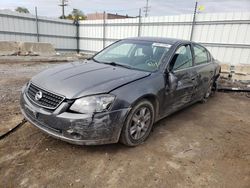
[[[0, 40], [50, 42], [57, 50], [96, 52], [126, 37], [190, 39], [193, 15], [80, 21], [0, 10]], [[79, 32], [78, 32], [79, 31]], [[223, 63], [250, 64], [250, 12], [197, 14], [192, 40]]]

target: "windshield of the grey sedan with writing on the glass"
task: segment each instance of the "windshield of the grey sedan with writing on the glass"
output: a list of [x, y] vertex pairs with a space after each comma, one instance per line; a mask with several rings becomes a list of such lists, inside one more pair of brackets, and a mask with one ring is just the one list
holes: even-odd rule
[[151, 41], [122, 40], [94, 56], [94, 60], [111, 65], [153, 72], [171, 45]]

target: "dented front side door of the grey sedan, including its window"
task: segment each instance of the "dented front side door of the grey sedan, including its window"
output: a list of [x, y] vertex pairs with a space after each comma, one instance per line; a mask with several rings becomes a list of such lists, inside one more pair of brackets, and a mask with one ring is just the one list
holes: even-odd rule
[[[175, 88], [166, 89], [165, 93], [165, 114], [168, 115], [191, 101], [196, 71], [193, 67], [193, 56], [190, 44], [182, 45], [177, 48], [169, 63], [169, 73], [175, 80]], [[170, 80], [167, 78], [167, 84]], [[167, 88], [170, 88], [169, 85]]]

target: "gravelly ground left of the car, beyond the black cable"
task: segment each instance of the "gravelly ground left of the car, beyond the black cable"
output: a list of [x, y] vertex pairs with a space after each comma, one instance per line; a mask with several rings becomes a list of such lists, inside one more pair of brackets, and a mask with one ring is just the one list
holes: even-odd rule
[[0, 63], [0, 136], [22, 120], [19, 95], [22, 86], [38, 72], [56, 63]]

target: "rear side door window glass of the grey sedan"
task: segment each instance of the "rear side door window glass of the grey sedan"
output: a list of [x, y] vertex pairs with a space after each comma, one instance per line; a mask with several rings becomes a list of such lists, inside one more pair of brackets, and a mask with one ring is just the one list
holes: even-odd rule
[[194, 64], [200, 65], [208, 62], [207, 50], [199, 45], [194, 45]]

